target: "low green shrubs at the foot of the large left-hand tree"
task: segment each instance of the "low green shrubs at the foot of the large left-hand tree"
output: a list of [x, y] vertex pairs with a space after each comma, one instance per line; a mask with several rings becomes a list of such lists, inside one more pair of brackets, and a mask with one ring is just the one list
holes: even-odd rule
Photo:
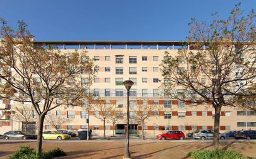
[[34, 148], [21, 147], [20, 150], [17, 150], [13, 155], [9, 156], [9, 159], [50, 159], [65, 155], [66, 153], [60, 148], [53, 148], [48, 152], [36, 153]]

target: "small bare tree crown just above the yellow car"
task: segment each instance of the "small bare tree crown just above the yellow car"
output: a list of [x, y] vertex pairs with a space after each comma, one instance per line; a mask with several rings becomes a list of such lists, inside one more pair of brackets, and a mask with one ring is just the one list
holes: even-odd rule
[[47, 115], [45, 117], [45, 121], [50, 124], [50, 126], [54, 127], [56, 130], [59, 129], [58, 126], [61, 126], [62, 124], [69, 123], [72, 120], [70, 118], [66, 118], [66, 116], [62, 115]]

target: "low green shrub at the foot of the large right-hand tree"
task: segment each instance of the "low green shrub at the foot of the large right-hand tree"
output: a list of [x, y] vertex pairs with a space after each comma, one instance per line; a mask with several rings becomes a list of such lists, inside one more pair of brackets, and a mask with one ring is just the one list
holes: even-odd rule
[[188, 153], [188, 156], [194, 159], [248, 159], [235, 150], [198, 150]]

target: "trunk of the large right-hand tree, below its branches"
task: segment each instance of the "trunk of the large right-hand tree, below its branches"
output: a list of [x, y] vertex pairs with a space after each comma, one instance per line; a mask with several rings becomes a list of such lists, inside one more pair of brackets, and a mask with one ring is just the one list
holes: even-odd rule
[[221, 105], [214, 106], [214, 131], [213, 131], [213, 147], [219, 148], [219, 119], [221, 116]]

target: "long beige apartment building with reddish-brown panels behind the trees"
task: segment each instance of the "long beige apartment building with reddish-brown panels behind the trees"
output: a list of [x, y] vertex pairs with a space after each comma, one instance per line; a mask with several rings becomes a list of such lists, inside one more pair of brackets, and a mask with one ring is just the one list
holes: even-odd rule
[[[56, 45], [63, 52], [73, 49], [87, 49], [88, 56], [94, 58], [94, 70], [98, 73], [90, 87], [90, 92], [104, 100], [105, 103], [116, 105], [117, 109], [126, 112], [127, 91], [122, 82], [132, 80], [130, 89], [130, 106], [157, 105], [158, 110], [145, 121], [145, 135], [153, 136], [166, 130], [181, 130], [191, 132], [196, 129], [213, 129], [214, 108], [211, 103], [182, 102], [165, 96], [164, 85], [168, 80], [163, 79], [160, 64], [165, 57], [165, 51], [175, 55], [183, 41], [35, 41], [35, 44]], [[81, 72], [81, 81], [88, 81], [86, 72]], [[93, 105], [93, 103], [90, 103]], [[21, 103], [0, 100], [0, 109], [11, 112]], [[63, 116], [68, 122], [60, 124], [58, 129], [77, 130], [89, 128], [94, 135], [103, 135], [103, 122], [96, 118], [97, 111], [89, 114], [80, 106], [60, 106], [50, 111], [48, 116]], [[0, 134], [6, 131], [24, 129], [24, 124], [11, 121], [12, 113], [1, 117]], [[142, 130], [141, 123], [136, 120], [137, 113], [130, 113], [130, 133], [136, 134]], [[35, 132], [35, 121], [29, 123], [29, 130]], [[238, 110], [233, 107], [222, 107], [220, 131], [256, 129], [256, 112]], [[45, 129], [54, 129], [45, 122]], [[125, 116], [120, 114], [116, 127], [106, 123], [106, 134], [124, 134], [127, 131]]]

